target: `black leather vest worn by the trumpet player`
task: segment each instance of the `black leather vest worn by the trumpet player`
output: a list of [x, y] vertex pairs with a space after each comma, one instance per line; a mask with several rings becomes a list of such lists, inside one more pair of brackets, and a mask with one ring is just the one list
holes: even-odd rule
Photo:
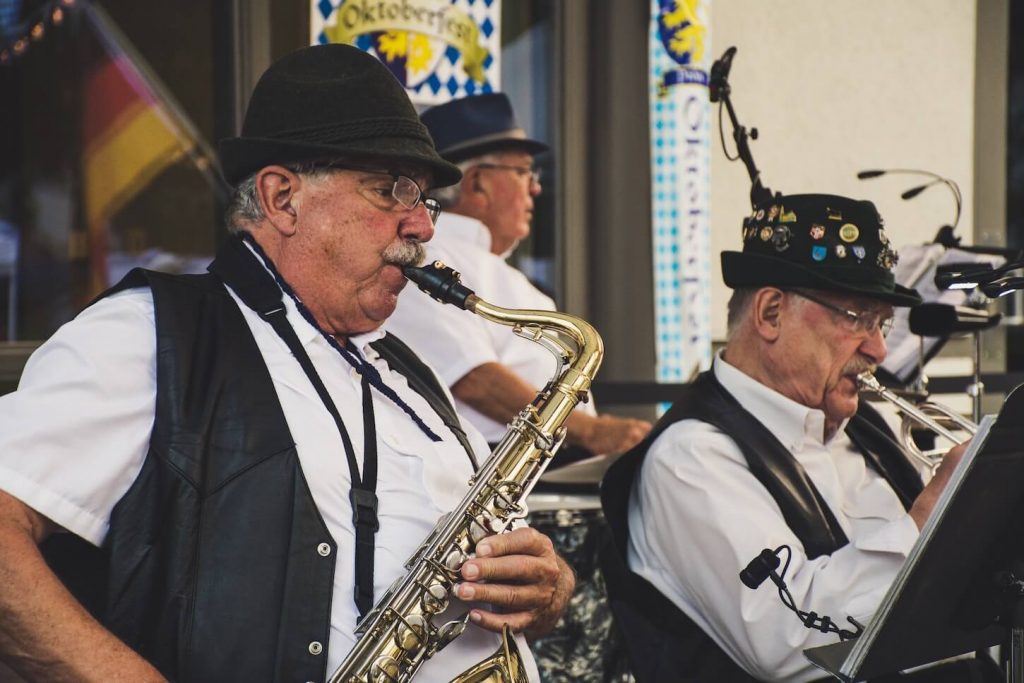
[[[669, 426], [686, 419], [712, 424], [736, 441], [751, 472], [778, 503], [786, 524], [803, 543], [808, 557], [831, 554], [845, 546], [848, 539], [800, 463], [755, 416], [739, 405], [711, 372], [684, 387], [679, 399], [650, 434], [605, 474], [601, 504], [611, 539], [602, 548], [601, 566], [638, 683], [753, 681], [682, 610], [650, 583], [630, 571], [626, 563], [633, 481], [654, 439]], [[921, 478], [882, 417], [861, 401], [846, 432], [868, 466], [886, 478], [904, 507], [909, 508], [921, 492]], [[694, 558], [699, 561], [698, 548], [694, 549]], [[738, 579], [742, 567], [721, 569], [734, 571], [736, 590], [746, 590]]]

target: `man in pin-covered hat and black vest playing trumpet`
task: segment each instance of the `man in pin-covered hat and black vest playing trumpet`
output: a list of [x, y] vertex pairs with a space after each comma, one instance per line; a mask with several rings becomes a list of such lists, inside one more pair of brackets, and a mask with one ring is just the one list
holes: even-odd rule
[[617, 587], [609, 578], [626, 603], [616, 616], [628, 638], [654, 641], [642, 661], [632, 650], [641, 682], [820, 679], [802, 652], [836, 636], [737, 573], [763, 548], [788, 546], [796, 606], [852, 630], [846, 616], [865, 622], [878, 607], [964, 452], [923, 485], [858, 400], [857, 375], [886, 356], [893, 307], [921, 302], [895, 283], [870, 202], [776, 197], [742, 238], [741, 252], [722, 254], [734, 290], [726, 348], [605, 478], [630, 570]]

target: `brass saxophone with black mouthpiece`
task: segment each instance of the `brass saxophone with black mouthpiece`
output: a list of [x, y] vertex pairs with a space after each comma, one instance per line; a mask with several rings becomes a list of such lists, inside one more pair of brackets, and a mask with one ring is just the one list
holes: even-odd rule
[[[525, 498], [565, 438], [565, 420], [589, 397], [604, 346], [597, 331], [579, 317], [544, 310], [502, 308], [480, 299], [440, 261], [404, 268], [406, 276], [434, 299], [508, 325], [558, 359], [547, 386], [509, 425], [508, 431], [469, 481], [458, 507], [437, 522], [406, 562], [407, 573], [360, 622], [355, 646], [328, 683], [406, 683], [423, 664], [459, 637], [469, 612], [442, 625], [459, 569], [478, 541], [508, 530], [526, 515]], [[522, 658], [508, 626], [492, 656], [470, 668], [459, 683], [525, 683]]]

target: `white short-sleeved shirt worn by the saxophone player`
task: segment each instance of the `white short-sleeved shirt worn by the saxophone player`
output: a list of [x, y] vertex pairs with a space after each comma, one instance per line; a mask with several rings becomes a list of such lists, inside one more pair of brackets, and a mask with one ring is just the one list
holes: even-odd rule
[[[354, 531], [344, 447], [334, 420], [288, 346], [233, 292], [231, 296], [266, 361], [313, 500], [338, 545], [328, 648], [328, 671], [333, 673], [354, 643], [357, 615], [352, 600]], [[302, 318], [289, 297], [285, 304], [289, 322], [348, 429], [361, 470], [359, 377]], [[442, 441], [431, 441], [401, 409], [373, 391], [380, 499], [375, 600], [404, 574], [406, 560], [437, 518], [462, 500], [472, 471], [465, 450], [441, 419], [369, 346], [383, 334], [378, 330], [351, 341], [380, 371], [385, 384]], [[0, 487], [100, 545], [114, 505], [134, 481], [148, 450], [157, 391], [156, 350], [148, 289], [108, 297], [60, 328], [32, 355], [18, 390], [0, 396]], [[486, 442], [474, 429], [466, 431], [482, 460]], [[530, 680], [539, 680], [525, 640], [517, 636], [517, 641]], [[494, 653], [499, 643], [497, 634], [470, 625], [423, 666], [416, 680], [450, 681]]]

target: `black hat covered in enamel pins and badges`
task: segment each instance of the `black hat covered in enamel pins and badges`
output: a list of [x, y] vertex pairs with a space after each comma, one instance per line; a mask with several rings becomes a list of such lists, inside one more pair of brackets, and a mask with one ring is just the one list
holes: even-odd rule
[[803, 287], [914, 306], [896, 284], [898, 259], [870, 202], [836, 195], [776, 196], [743, 219], [743, 250], [722, 252], [722, 278], [741, 287]]

